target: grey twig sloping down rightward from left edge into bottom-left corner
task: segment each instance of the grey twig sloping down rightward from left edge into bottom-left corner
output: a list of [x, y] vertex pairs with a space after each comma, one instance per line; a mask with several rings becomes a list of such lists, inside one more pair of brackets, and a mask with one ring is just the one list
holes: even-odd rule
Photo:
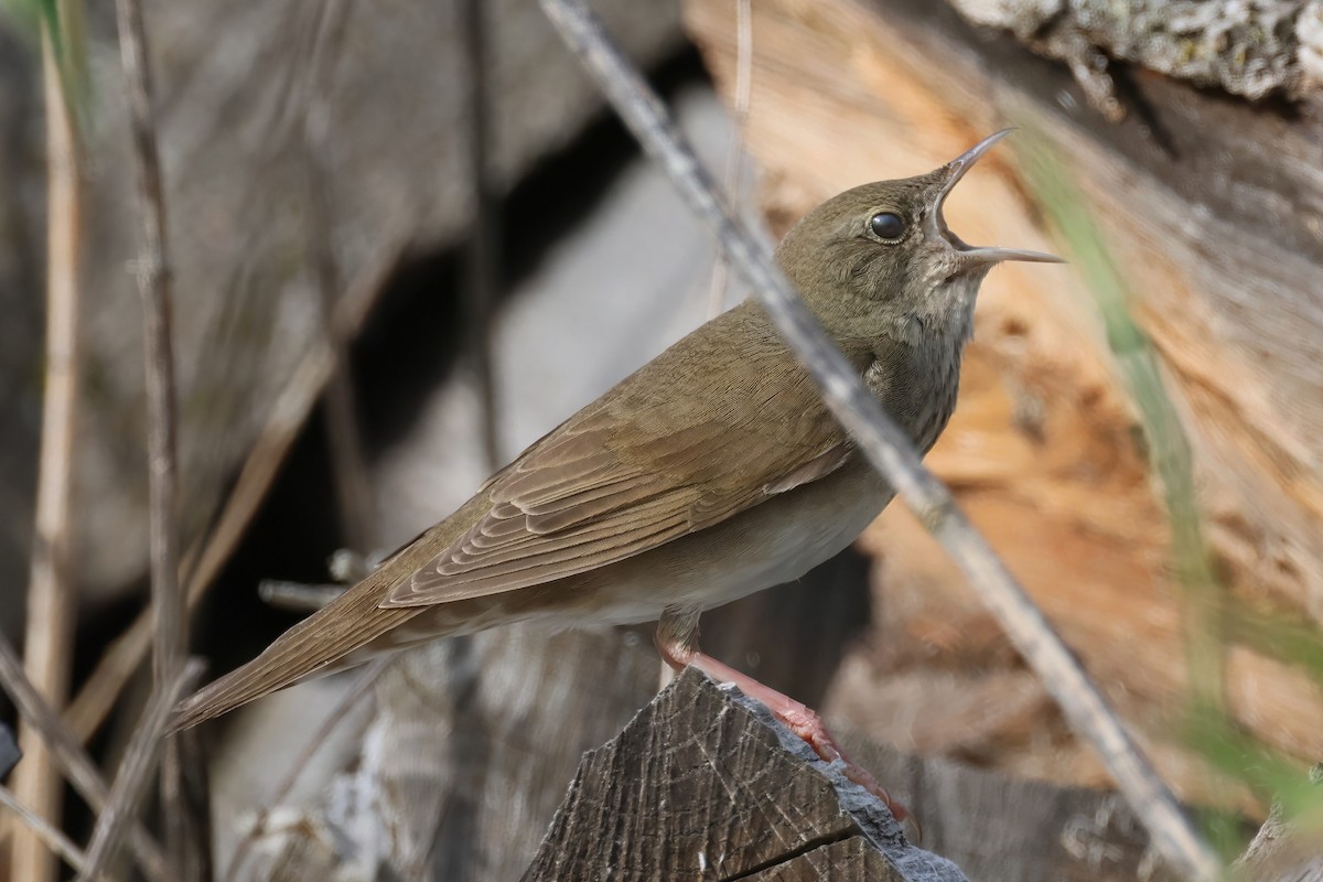
[[[32, 681], [22, 673], [22, 662], [19, 661], [19, 655], [3, 631], [0, 631], [0, 684], [4, 685], [15, 707], [19, 709], [19, 715], [41, 735], [41, 741], [49, 747], [50, 754], [78, 795], [91, 805], [93, 811], [105, 809], [110, 791], [101, 780], [97, 766], [83, 751], [74, 734], [65, 727], [60, 717], [37, 693]], [[128, 845], [138, 860], [138, 866], [147, 874], [147, 878], [152, 882], [169, 881], [171, 877], [165, 870], [165, 856], [140, 824], [134, 824]]]

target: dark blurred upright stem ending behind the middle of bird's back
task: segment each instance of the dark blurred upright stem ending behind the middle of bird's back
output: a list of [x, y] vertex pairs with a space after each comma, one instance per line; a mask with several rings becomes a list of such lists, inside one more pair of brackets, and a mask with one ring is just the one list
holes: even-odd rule
[[487, 24], [482, 0], [463, 0], [463, 40], [459, 41], [464, 90], [468, 107], [467, 179], [472, 186], [472, 223], [464, 249], [464, 303], [467, 312], [468, 362], [478, 393], [479, 431], [487, 468], [504, 465], [497, 418], [496, 378], [492, 366], [492, 309], [496, 301], [500, 266], [500, 209], [492, 181], [491, 152], [492, 102], [496, 99], [487, 82]]

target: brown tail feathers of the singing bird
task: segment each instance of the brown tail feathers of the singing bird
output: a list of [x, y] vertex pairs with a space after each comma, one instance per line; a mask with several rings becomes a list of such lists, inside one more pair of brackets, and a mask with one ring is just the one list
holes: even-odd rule
[[378, 574], [381, 570], [286, 631], [253, 661], [181, 701], [171, 717], [169, 730], [196, 726], [314, 674], [366, 661], [368, 657], [355, 649], [423, 610], [378, 607], [382, 595], [378, 578], [374, 578]]

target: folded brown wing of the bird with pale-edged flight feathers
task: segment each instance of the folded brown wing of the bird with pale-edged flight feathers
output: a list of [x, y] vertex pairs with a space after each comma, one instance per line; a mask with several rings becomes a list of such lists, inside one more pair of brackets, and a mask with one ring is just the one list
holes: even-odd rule
[[663, 406], [669, 393], [646, 381], [581, 411], [492, 479], [486, 514], [381, 606], [448, 603], [577, 575], [839, 468], [849, 443], [807, 374], [779, 346], [759, 357], [777, 364], [744, 364], [716, 383], [693, 383], [709, 399], [679, 423], [664, 424], [675, 418]]

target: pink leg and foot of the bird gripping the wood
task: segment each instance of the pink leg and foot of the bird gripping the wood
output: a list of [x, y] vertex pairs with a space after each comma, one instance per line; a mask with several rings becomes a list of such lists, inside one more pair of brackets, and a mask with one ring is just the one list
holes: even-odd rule
[[868, 770], [856, 766], [845, 756], [816, 711], [699, 649], [699, 611], [668, 608], [658, 621], [658, 629], [652, 639], [658, 652], [662, 653], [662, 660], [672, 669], [680, 672], [692, 665], [717, 682], [734, 684], [740, 692], [762, 702], [773, 717], [783, 722], [795, 735], [803, 738], [823, 760], [831, 763], [839, 759], [845, 767], [845, 778], [886, 803], [886, 808], [890, 809], [897, 821], [909, 817], [909, 809], [894, 801]]

